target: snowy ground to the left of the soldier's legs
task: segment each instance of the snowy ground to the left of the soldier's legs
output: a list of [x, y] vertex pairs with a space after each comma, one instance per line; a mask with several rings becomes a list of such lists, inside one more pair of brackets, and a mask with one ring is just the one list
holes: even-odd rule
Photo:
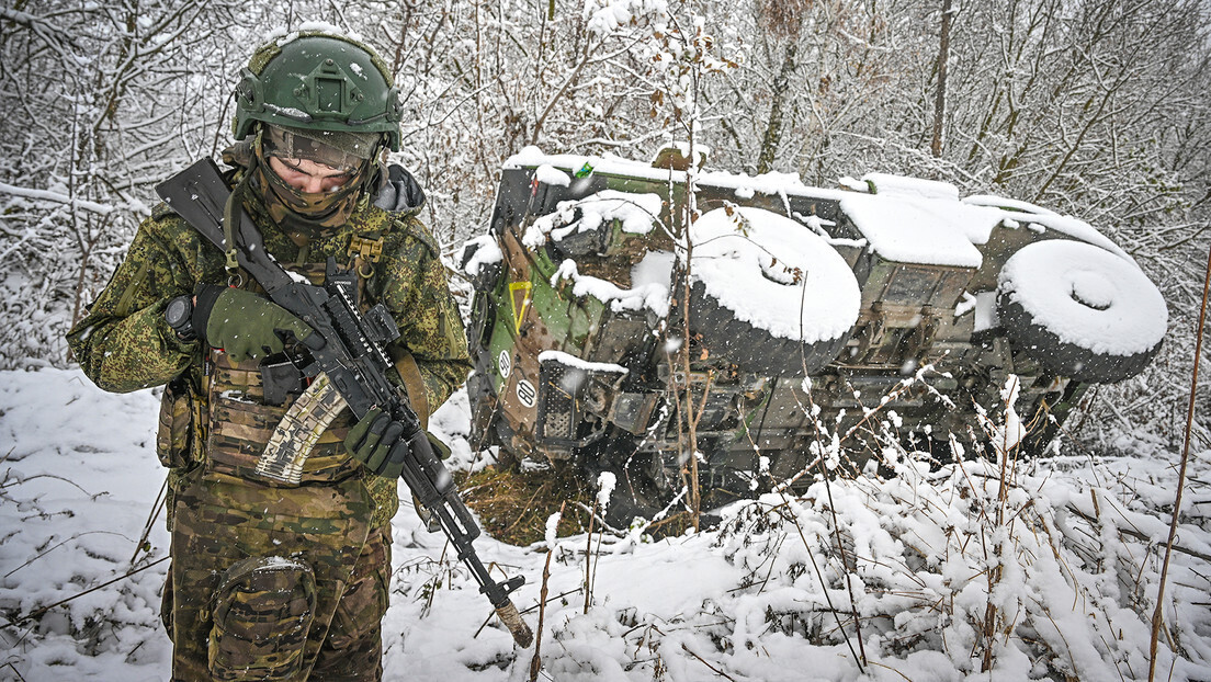
[[[137, 554], [136, 568], [165, 556], [162, 518], [148, 538], [150, 556], [136, 551], [163, 477], [154, 453], [157, 412], [150, 391], [109, 396], [80, 372], [0, 374], [0, 442], [6, 443], [0, 451], [0, 612], [6, 623], [76, 595], [81, 585], [126, 573]], [[170, 651], [155, 646], [163, 638], [156, 630], [165, 568], [53, 611], [40, 623], [38, 646], [22, 644], [16, 629], [0, 631], [0, 648], [8, 651], [0, 666], [19, 655], [28, 661], [21, 667], [25, 680], [167, 677]], [[98, 613], [115, 627], [88, 627]], [[125, 667], [130, 664], [136, 665]], [[12, 677], [0, 667], [0, 678]]]

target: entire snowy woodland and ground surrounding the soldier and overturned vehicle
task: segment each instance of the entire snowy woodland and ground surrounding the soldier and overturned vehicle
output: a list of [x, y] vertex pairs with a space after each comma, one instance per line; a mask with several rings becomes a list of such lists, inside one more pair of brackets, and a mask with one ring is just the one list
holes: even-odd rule
[[[1075, 216], [1126, 250], [1169, 304], [1152, 366], [1086, 394], [1062, 454], [1011, 486], [989, 483], [1005, 472], [981, 462], [939, 477], [906, 460], [895, 478], [826, 482], [676, 545], [610, 539], [604, 607], [592, 609], [590, 552], [575, 549], [589, 546], [584, 535], [557, 540], [549, 523], [546, 543], [530, 548], [481, 543], [534, 590], [545, 591], [551, 556], [557, 590], [572, 594], [584, 577], [582, 613], [550, 604], [541, 665], [551, 676], [695, 680], [722, 665], [773, 680], [823, 661], [820, 677], [850, 680], [869, 660], [880, 680], [976, 669], [1142, 680], [1155, 661], [1161, 675], [1204, 677], [1205, 380], [1184, 554], [1171, 596], [1155, 595], [1211, 247], [1209, 0], [10, 0], [0, 6], [0, 371], [17, 371], [0, 380], [0, 441], [13, 443], [0, 451], [0, 545], [12, 564], [0, 579], [11, 621], [0, 638], [12, 646], [0, 678], [62, 678], [70, 666], [75, 677], [133, 680], [166, 665], [154, 609], [162, 567], [87, 590], [70, 621], [52, 608], [127, 563], [162, 561], [160, 525], [128, 561], [125, 545], [105, 544], [115, 529], [138, 535], [143, 488], [161, 476], [144, 466], [154, 396], [87, 392], [76, 369], [19, 369], [71, 365], [63, 334], [150, 213], [153, 187], [229, 143], [239, 69], [266, 35], [305, 22], [356, 33], [390, 63], [406, 96], [394, 160], [425, 187], [424, 217], [450, 262], [484, 231], [501, 162], [524, 147], [647, 160], [693, 138], [710, 148], [711, 168], [820, 187], [911, 174]], [[469, 290], [457, 276], [454, 286]], [[86, 480], [87, 489], [74, 482]], [[401, 517], [411, 541], [396, 545], [403, 598], [388, 623], [403, 635], [388, 646], [388, 677], [419, 665], [427, 678], [522, 678], [529, 654], [504, 634], [467, 644], [480, 595]], [[840, 529], [868, 545], [855, 550], [856, 569]], [[833, 538], [836, 552], [825, 549]], [[815, 555], [822, 568], [808, 573]], [[442, 580], [443, 606], [430, 612]], [[830, 598], [855, 614], [859, 647], [861, 614], [869, 659]], [[1144, 629], [1158, 601], [1170, 609], [1159, 657]]]

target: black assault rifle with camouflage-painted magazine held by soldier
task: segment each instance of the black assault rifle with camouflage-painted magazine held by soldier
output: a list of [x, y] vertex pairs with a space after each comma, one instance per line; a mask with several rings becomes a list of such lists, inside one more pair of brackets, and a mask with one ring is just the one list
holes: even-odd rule
[[388, 379], [395, 366], [384, 346], [398, 337], [400, 331], [386, 306], [379, 303], [363, 316], [354, 303], [355, 275], [338, 273], [332, 259], [323, 286], [291, 276], [265, 251], [260, 230], [242, 210], [234, 214], [239, 223], [230, 225], [226, 233], [233, 235], [234, 245], [226, 243], [223, 216], [231, 190], [210, 159], [197, 161], [157, 185], [156, 193], [219, 250], [230, 253], [234, 248], [240, 267], [269, 298], [315, 329], [304, 344], [292, 349], [298, 354], [292, 359], [294, 365], [314, 379], [275, 430], [260, 457], [258, 472], [279, 481], [298, 482], [311, 447], [337, 413], [348, 405], [360, 419], [372, 407], [381, 407], [404, 428], [408, 452], [401, 474], [403, 481], [441, 522], [458, 557], [471, 569], [480, 591], [492, 602], [513, 640], [528, 647], [533, 634], [509, 598], [526, 578], [516, 575], [503, 584], [492, 579], [471, 545], [480, 535], [480, 527], [459, 498], [446, 465], [434, 453], [417, 413]]

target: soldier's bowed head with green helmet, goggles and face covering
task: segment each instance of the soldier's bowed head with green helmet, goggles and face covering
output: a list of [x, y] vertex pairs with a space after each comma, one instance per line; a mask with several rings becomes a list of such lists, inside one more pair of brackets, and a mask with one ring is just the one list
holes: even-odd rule
[[[384, 148], [400, 149], [402, 107], [391, 70], [368, 45], [328, 30], [271, 39], [240, 71], [234, 133], [248, 162], [233, 197], [259, 195], [292, 235], [344, 224], [380, 183]], [[224, 153], [226, 157], [226, 151]], [[239, 155], [233, 155], [233, 160]], [[337, 187], [308, 191], [272, 171], [309, 160], [342, 171]]]

